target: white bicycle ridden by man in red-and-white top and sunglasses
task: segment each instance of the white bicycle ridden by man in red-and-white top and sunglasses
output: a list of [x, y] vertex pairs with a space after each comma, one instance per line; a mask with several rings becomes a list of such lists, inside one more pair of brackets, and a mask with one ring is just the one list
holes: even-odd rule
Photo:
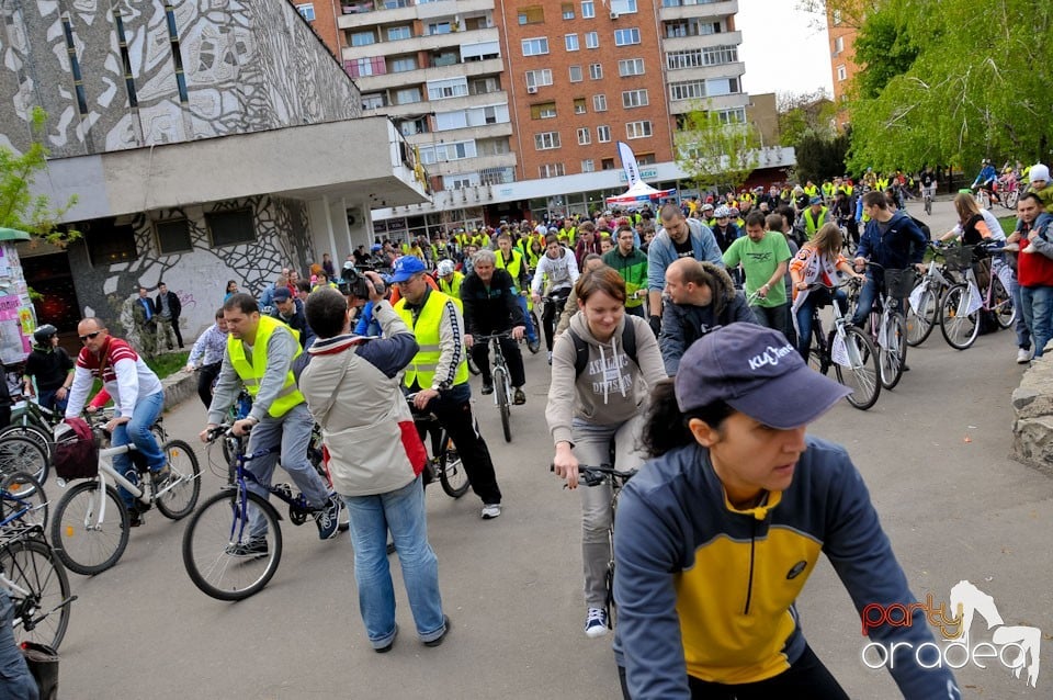
[[[99, 432], [97, 430], [97, 436]], [[104, 436], [98, 439], [105, 441]], [[114, 566], [124, 554], [128, 544], [131, 515], [107, 476], [132, 494], [139, 513], [155, 504], [161, 515], [170, 520], [180, 520], [191, 513], [201, 493], [197, 456], [182, 440], [170, 440], [161, 450], [170, 470], [169, 478], [162, 484], [155, 482], [143, 453], [129, 442], [101, 449], [98, 474], [76, 484], [59, 499], [52, 519], [52, 542], [66, 568], [93, 576]], [[114, 468], [112, 460], [125, 453], [132, 460], [132, 468], [127, 474], [121, 474]], [[60, 478], [59, 486], [65, 484], [66, 479]]]

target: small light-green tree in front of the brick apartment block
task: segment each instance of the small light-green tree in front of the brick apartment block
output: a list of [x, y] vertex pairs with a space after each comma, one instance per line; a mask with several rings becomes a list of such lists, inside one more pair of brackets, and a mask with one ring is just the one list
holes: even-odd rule
[[750, 124], [725, 123], [717, 112], [694, 106], [683, 115], [683, 125], [673, 137], [677, 165], [700, 190], [737, 190], [757, 167], [757, 129]]

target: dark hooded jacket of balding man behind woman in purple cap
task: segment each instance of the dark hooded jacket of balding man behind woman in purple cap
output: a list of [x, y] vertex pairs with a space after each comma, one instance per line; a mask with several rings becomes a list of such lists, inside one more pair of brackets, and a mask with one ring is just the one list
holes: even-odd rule
[[658, 336], [658, 345], [661, 348], [666, 374], [669, 376], [676, 376], [680, 369], [680, 358], [691, 343], [717, 326], [757, 323], [757, 316], [746, 303], [746, 296], [735, 289], [735, 283], [724, 268], [712, 262], [702, 262], [702, 268], [712, 275], [716, 286], [711, 290], [713, 301], [707, 306], [673, 303], [661, 305], [661, 334]]

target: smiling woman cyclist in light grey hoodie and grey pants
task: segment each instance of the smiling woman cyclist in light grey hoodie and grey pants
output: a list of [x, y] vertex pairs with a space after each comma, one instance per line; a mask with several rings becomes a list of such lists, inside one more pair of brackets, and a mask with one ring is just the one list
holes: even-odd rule
[[[556, 339], [545, 408], [556, 449], [553, 465], [569, 488], [578, 486], [579, 462], [593, 466], [610, 462], [612, 442], [620, 470], [643, 463], [636, 439], [646, 393], [637, 384], [643, 381], [653, 387], [666, 376], [647, 323], [625, 313], [625, 282], [618, 272], [608, 267], [586, 272], [575, 292], [581, 313]], [[585, 633], [590, 637], [608, 630], [610, 527], [610, 485], [581, 489]]]

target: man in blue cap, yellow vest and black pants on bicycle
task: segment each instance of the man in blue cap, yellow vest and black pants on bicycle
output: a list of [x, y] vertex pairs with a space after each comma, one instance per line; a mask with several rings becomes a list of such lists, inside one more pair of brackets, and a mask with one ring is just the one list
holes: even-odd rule
[[472, 417], [462, 302], [431, 289], [424, 281], [428, 276], [427, 268], [416, 258], [400, 258], [392, 274], [392, 283], [401, 293], [395, 312], [414, 329], [420, 346], [403, 383], [417, 394], [414, 405], [433, 413], [450, 434], [472, 490], [483, 500], [482, 517], [491, 520], [501, 515], [501, 489], [490, 451]]

